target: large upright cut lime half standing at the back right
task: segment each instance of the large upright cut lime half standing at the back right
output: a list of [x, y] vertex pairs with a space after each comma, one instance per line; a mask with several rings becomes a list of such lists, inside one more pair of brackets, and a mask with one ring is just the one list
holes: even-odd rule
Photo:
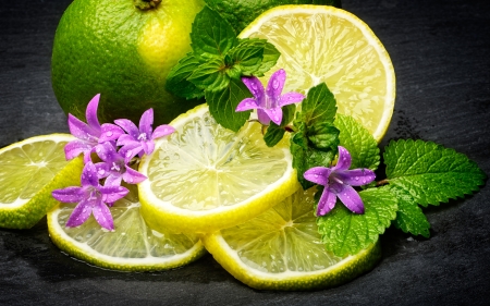
[[241, 38], [266, 38], [281, 52], [287, 73], [284, 93], [327, 83], [339, 112], [354, 117], [379, 142], [390, 123], [395, 75], [390, 57], [372, 30], [355, 15], [326, 5], [282, 5], [266, 11]]

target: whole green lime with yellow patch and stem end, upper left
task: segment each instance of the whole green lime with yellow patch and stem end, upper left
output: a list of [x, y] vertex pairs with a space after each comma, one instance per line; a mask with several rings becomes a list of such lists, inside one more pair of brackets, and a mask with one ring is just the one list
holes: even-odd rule
[[51, 61], [61, 108], [85, 119], [101, 94], [99, 120], [138, 122], [154, 108], [167, 123], [199, 101], [166, 91], [169, 71], [191, 51], [189, 33], [203, 0], [75, 0], [58, 25]]

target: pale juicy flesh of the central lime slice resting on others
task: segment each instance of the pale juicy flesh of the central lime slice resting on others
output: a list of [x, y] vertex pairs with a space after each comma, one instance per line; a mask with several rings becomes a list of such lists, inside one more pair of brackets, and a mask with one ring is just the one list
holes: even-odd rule
[[206, 112], [193, 118], [154, 152], [148, 167], [151, 192], [188, 210], [233, 206], [282, 178], [284, 151], [269, 148], [260, 124], [238, 134], [223, 128]]

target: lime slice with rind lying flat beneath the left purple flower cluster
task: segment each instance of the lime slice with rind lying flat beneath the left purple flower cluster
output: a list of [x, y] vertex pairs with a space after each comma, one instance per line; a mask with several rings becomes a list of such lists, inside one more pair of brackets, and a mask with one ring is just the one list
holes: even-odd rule
[[48, 213], [53, 243], [88, 264], [123, 271], [157, 271], [177, 268], [206, 253], [197, 235], [173, 234], [149, 228], [139, 213], [137, 187], [110, 208], [115, 230], [109, 232], [91, 216], [77, 228], [65, 223], [75, 205], [60, 204]]

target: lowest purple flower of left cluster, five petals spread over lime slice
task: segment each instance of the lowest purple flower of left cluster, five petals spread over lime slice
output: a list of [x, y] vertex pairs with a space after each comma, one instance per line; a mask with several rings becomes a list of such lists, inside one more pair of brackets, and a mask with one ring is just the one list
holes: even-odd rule
[[63, 203], [78, 203], [70, 216], [66, 227], [74, 228], [87, 221], [94, 213], [96, 221], [105, 229], [114, 230], [114, 222], [107, 203], [114, 203], [130, 191], [122, 186], [101, 186], [95, 164], [89, 161], [82, 172], [82, 187], [56, 189], [52, 196]]

